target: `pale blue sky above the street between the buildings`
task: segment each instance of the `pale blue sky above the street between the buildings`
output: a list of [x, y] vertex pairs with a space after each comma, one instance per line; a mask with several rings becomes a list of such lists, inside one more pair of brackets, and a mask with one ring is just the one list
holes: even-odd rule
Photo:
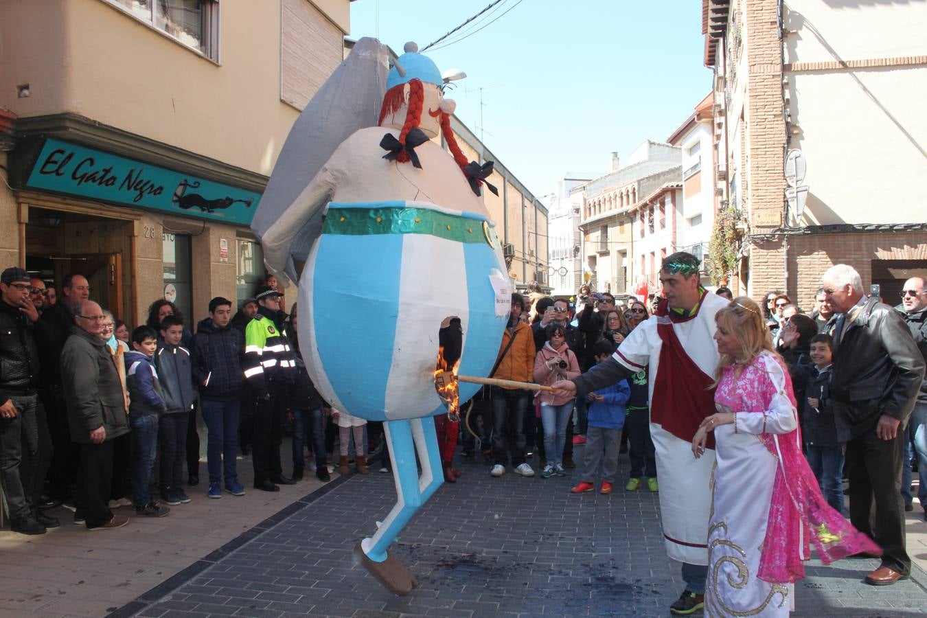
[[[425, 47], [490, 1], [357, 0], [350, 37]], [[466, 71], [448, 96], [477, 136], [483, 88], [484, 141], [538, 197], [568, 171], [607, 171], [612, 151], [665, 141], [711, 90], [696, 0], [504, 0], [463, 32], [497, 17], [426, 54]]]

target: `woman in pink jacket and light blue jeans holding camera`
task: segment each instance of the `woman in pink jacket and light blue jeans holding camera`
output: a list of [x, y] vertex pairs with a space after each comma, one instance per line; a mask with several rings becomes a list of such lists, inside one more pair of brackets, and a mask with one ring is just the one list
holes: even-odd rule
[[[579, 362], [566, 345], [564, 326], [552, 322], [545, 330], [547, 343], [540, 348], [534, 359], [534, 381], [539, 385], [552, 385], [558, 380], [570, 380], [579, 375]], [[540, 421], [544, 426], [544, 453], [547, 465], [541, 471], [541, 478], [552, 474], [563, 476], [563, 452], [566, 443], [566, 423], [573, 411], [573, 397], [557, 397], [551, 392], [538, 391]]]

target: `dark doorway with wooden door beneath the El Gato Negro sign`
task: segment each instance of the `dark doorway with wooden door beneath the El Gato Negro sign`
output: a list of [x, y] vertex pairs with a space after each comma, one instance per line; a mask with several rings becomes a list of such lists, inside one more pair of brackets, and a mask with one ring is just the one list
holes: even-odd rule
[[131, 315], [132, 284], [123, 272], [132, 225], [71, 212], [30, 208], [26, 224], [26, 270], [60, 285], [70, 272], [90, 284], [90, 298], [117, 320]]

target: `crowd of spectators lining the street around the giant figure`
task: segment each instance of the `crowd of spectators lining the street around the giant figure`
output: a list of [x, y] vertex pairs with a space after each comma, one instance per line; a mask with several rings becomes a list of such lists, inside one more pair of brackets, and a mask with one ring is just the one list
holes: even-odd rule
[[[106, 529], [128, 522], [118, 514], [122, 507], [157, 517], [189, 502], [184, 487], [199, 485], [197, 415], [207, 433], [209, 498], [222, 498], [223, 488], [246, 493], [236, 469], [239, 449], [252, 455], [254, 488], [263, 491], [296, 483], [307, 465], [329, 480], [336, 448], [342, 473], [351, 452], [366, 473], [371, 451], [382, 455], [380, 472], [389, 472], [380, 423], [324, 402], [301, 359], [297, 306], [287, 314], [273, 277], [265, 283], [237, 310], [231, 300], [213, 298], [195, 328], [159, 299], [146, 323], [133, 329], [90, 298], [80, 274], [56, 287], [19, 268], [3, 271], [0, 481], [12, 529], [44, 533], [59, 524], [45, 511], [61, 503], [73, 509], [75, 523]], [[715, 293], [732, 296], [726, 287]], [[514, 294], [491, 376], [550, 385], [586, 372], [650, 317], [647, 300], [616, 299], [588, 285], [571, 298], [535, 295], [529, 302]], [[913, 509], [912, 471], [920, 474], [921, 506], [927, 503], [927, 387], [911, 396], [909, 421], [902, 412], [911, 402], [897, 390], [927, 357], [924, 280], [908, 279], [900, 300], [892, 308], [865, 296], [858, 274], [846, 267], [825, 277], [809, 315], [781, 290], [758, 303], [792, 374], [806, 458], [824, 496], [846, 512], [844, 478], [856, 478], [849, 514], [875, 536], [862, 523], [875, 512], [889, 551], [897, 549], [891, 546], [898, 535], [887, 531], [897, 528], [901, 510]], [[877, 392], [888, 374], [895, 390]], [[482, 451], [492, 476], [511, 466], [526, 477], [538, 467], [548, 478], [576, 468], [574, 447], [585, 445], [572, 491], [591, 491], [601, 471], [602, 492], [610, 493], [618, 454], [629, 451], [625, 490], [657, 492], [647, 381], [644, 370], [607, 392], [575, 399], [487, 386], [464, 407], [464, 457]], [[863, 398], [872, 410], [862, 410]], [[898, 423], [883, 427], [883, 415]], [[868, 431], [876, 422], [878, 432]], [[450, 445], [442, 446], [445, 478], [456, 482], [458, 426], [438, 419], [438, 428], [442, 445]], [[883, 438], [893, 430], [902, 436], [897, 453], [895, 441]], [[288, 476], [280, 449], [285, 433], [293, 438]], [[902, 478], [894, 479], [899, 467]]]

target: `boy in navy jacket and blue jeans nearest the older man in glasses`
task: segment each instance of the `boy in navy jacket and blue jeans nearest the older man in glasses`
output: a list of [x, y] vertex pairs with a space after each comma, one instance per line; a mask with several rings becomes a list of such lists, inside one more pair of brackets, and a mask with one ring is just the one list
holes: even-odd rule
[[167, 410], [164, 392], [152, 358], [158, 349], [158, 334], [139, 326], [132, 334], [133, 351], [125, 353], [125, 381], [129, 389], [129, 426], [132, 427], [132, 482], [135, 512], [143, 517], [163, 517], [170, 509], [151, 499], [148, 486], [158, 454], [159, 417]]

